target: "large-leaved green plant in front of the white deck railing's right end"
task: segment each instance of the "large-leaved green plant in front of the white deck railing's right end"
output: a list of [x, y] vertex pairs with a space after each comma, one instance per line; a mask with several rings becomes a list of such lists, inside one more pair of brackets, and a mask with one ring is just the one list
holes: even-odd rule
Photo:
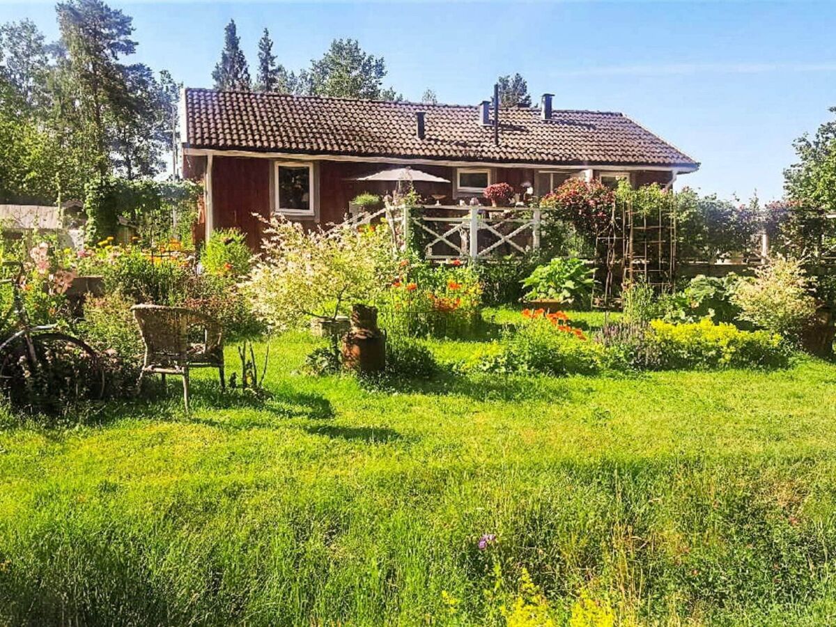
[[594, 286], [594, 272], [581, 259], [555, 257], [523, 279], [523, 287], [528, 288], [523, 298], [587, 305]]

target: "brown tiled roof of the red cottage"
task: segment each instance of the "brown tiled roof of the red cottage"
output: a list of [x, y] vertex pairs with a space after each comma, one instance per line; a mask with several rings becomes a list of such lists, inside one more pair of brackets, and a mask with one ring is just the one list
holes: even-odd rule
[[[426, 111], [426, 135], [415, 113]], [[630, 118], [601, 111], [500, 110], [499, 145], [477, 106], [186, 89], [187, 145], [306, 155], [549, 165], [698, 164]]]

